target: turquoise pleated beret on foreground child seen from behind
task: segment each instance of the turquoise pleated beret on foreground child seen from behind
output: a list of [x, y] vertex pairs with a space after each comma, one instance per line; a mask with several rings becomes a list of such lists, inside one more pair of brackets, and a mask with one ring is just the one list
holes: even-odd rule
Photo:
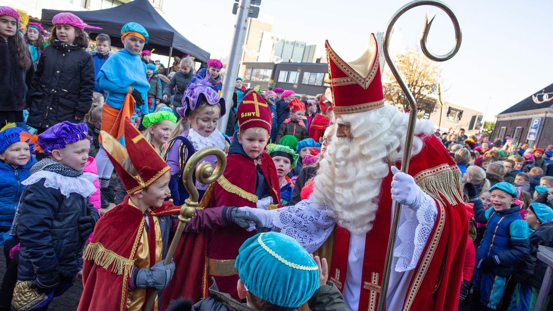
[[284, 308], [298, 308], [319, 288], [319, 269], [293, 238], [257, 234], [240, 247], [234, 267], [249, 292]]

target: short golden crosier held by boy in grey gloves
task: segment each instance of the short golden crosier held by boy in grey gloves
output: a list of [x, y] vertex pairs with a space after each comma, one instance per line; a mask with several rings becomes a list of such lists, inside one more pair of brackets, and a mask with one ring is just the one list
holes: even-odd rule
[[[215, 169], [213, 169], [213, 165], [209, 162], [203, 162], [198, 165], [200, 160], [207, 157], [207, 155], [215, 155], [217, 157], [217, 167]], [[194, 215], [196, 215], [196, 209], [198, 208], [198, 199], [200, 195], [198, 194], [198, 190], [196, 189], [194, 182], [192, 182], [192, 174], [194, 173], [194, 169], [196, 169], [196, 180], [198, 180], [202, 184], [211, 184], [215, 182], [215, 180], [217, 180], [219, 177], [221, 177], [221, 175], [225, 171], [226, 165], [227, 157], [225, 155], [225, 152], [215, 147], [201, 149], [200, 151], [194, 153], [190, 157], [188, 162], [186, 162], [184, 172], [182, 173], [182, 183], [184, 184], [186, 191], [188, 191], [190, 196], [184, 201], [184, 204], [180, 208], [180, 224], [175, 232], [175, 237], [173, 237], [173, 241], [171, 241], [167, 256], [165, 256], [165, 265], [169, 265], [169, 263], [171, 263], [171, 261], [173, 260], [173, 254], [175, 253], [176, 246], [179, 244], [179, 240], [182, 235], [182, 231], [184, 231], [184, 227], [190, 221], [190, 219]], [[152, 309], [155, 298], [158, 296], [158, 292], [158, 290], [155, 290], [152, 295], [150, 295], [150, 299], [148, 300], [148, 303], [145, 304], [144, 310]]]

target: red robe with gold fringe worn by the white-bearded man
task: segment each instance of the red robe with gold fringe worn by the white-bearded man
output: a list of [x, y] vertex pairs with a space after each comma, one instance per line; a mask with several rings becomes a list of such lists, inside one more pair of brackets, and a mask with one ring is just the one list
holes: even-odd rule
[[[461, 196], [461, 173], [434, 135], [423, 139], [424, 147], [411, 158], [408, 173], [435, 200], [437, 217], [403, 298], [403, 310], [457, 310], [468, 236], [468, 219]], [[400, 163], [395, 165], [400, 167]], [[392, 177], [393, 174], [389, 173], [382, 182], [374, 225], [366, 234], [359, 310], [376, 310], [380, 297], [392, 217]], [[337, 227], [328, 274], [340, 291], [343, 291], [346, 282], [349, 241], [349, 231]]]

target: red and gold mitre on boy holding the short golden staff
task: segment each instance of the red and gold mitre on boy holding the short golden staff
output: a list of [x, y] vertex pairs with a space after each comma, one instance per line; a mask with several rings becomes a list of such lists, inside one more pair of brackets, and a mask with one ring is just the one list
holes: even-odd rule
[[[146, 141], [129, 118], [125, 118], [125, 146], [105, 131], [102, 136], [102, 147], [113, 163], [115, 171], [121, 178], [128, 194], [140, 191], [169, 172], [169, 165], [165, 163], [152, 145]], [[123, 168], [123, 161], [129, 158], [138, 175], [133, 176]]]

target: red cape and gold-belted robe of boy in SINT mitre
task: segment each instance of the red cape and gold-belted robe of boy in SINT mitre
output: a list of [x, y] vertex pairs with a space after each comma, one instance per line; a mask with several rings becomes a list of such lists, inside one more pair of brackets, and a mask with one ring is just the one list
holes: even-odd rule
[[[262, 153], [259, 160], [254, 162], [253, 159], [239, 153], [229, 154], [225, 172], [214, 183], [210, 206], [255, 208], [258, 200], [255, 196], [256, 165], [259, 165], [263, 173], [273, 202], [278, 204], [280, 202], [280, 186], [273, 159], [267, 153]], [[207, 280], [211, 285], [211, 278], [215, 278], [220, 291], [231, 294], [235, 299], [239, 299], [239, 297], [236, 291], [238, 272], [234, 268], [234, 261], [242, 243], [253, 235], [255, 235], [254, 231], [248, 232], [237, 225], [230, 225], [208, 233]]]

